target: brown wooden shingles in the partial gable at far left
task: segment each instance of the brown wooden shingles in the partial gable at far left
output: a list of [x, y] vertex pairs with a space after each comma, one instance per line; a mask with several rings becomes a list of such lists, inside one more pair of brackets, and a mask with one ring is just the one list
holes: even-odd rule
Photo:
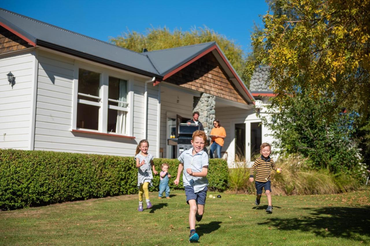
[[0, 27], [0, 54], [30, 47], [32, 47], [32, 45], [6, 30], [4, 27]]

